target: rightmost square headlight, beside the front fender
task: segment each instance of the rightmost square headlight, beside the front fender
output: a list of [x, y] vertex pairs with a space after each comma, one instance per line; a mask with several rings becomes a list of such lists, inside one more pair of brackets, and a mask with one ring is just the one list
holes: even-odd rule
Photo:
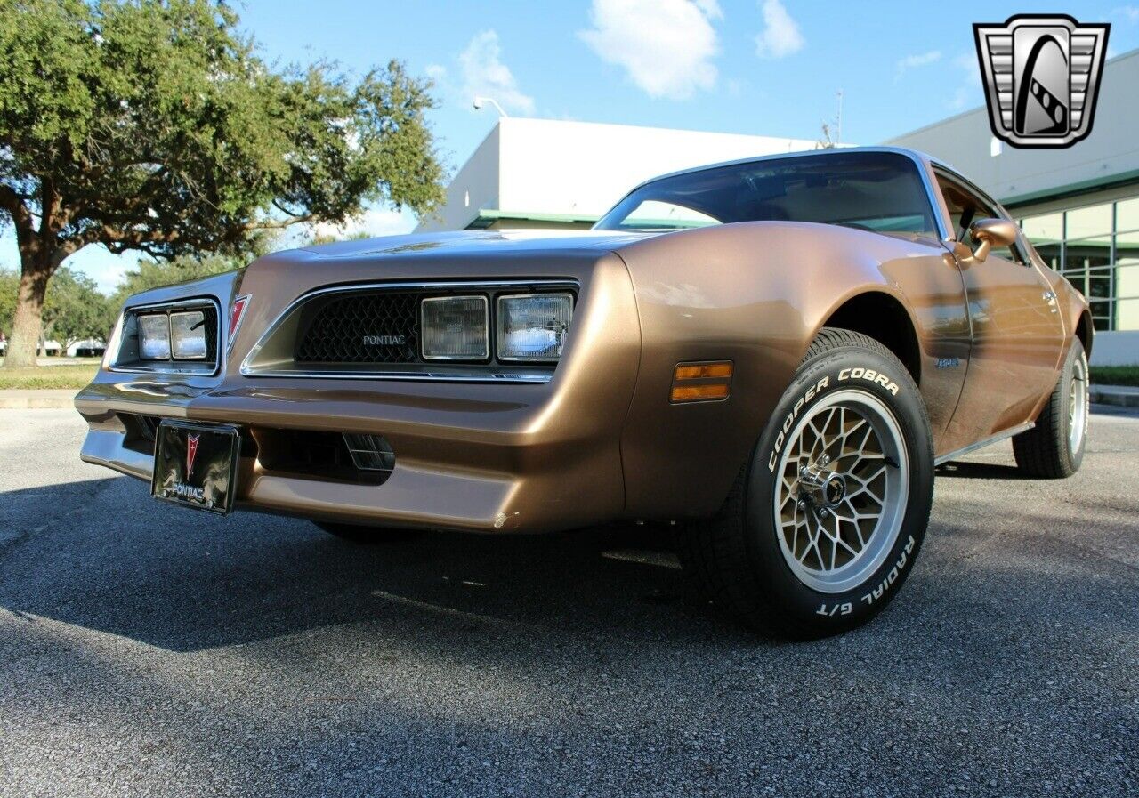
[[500, 296], [499, 360], [556, 361], [570, 331], [572, 294]]

